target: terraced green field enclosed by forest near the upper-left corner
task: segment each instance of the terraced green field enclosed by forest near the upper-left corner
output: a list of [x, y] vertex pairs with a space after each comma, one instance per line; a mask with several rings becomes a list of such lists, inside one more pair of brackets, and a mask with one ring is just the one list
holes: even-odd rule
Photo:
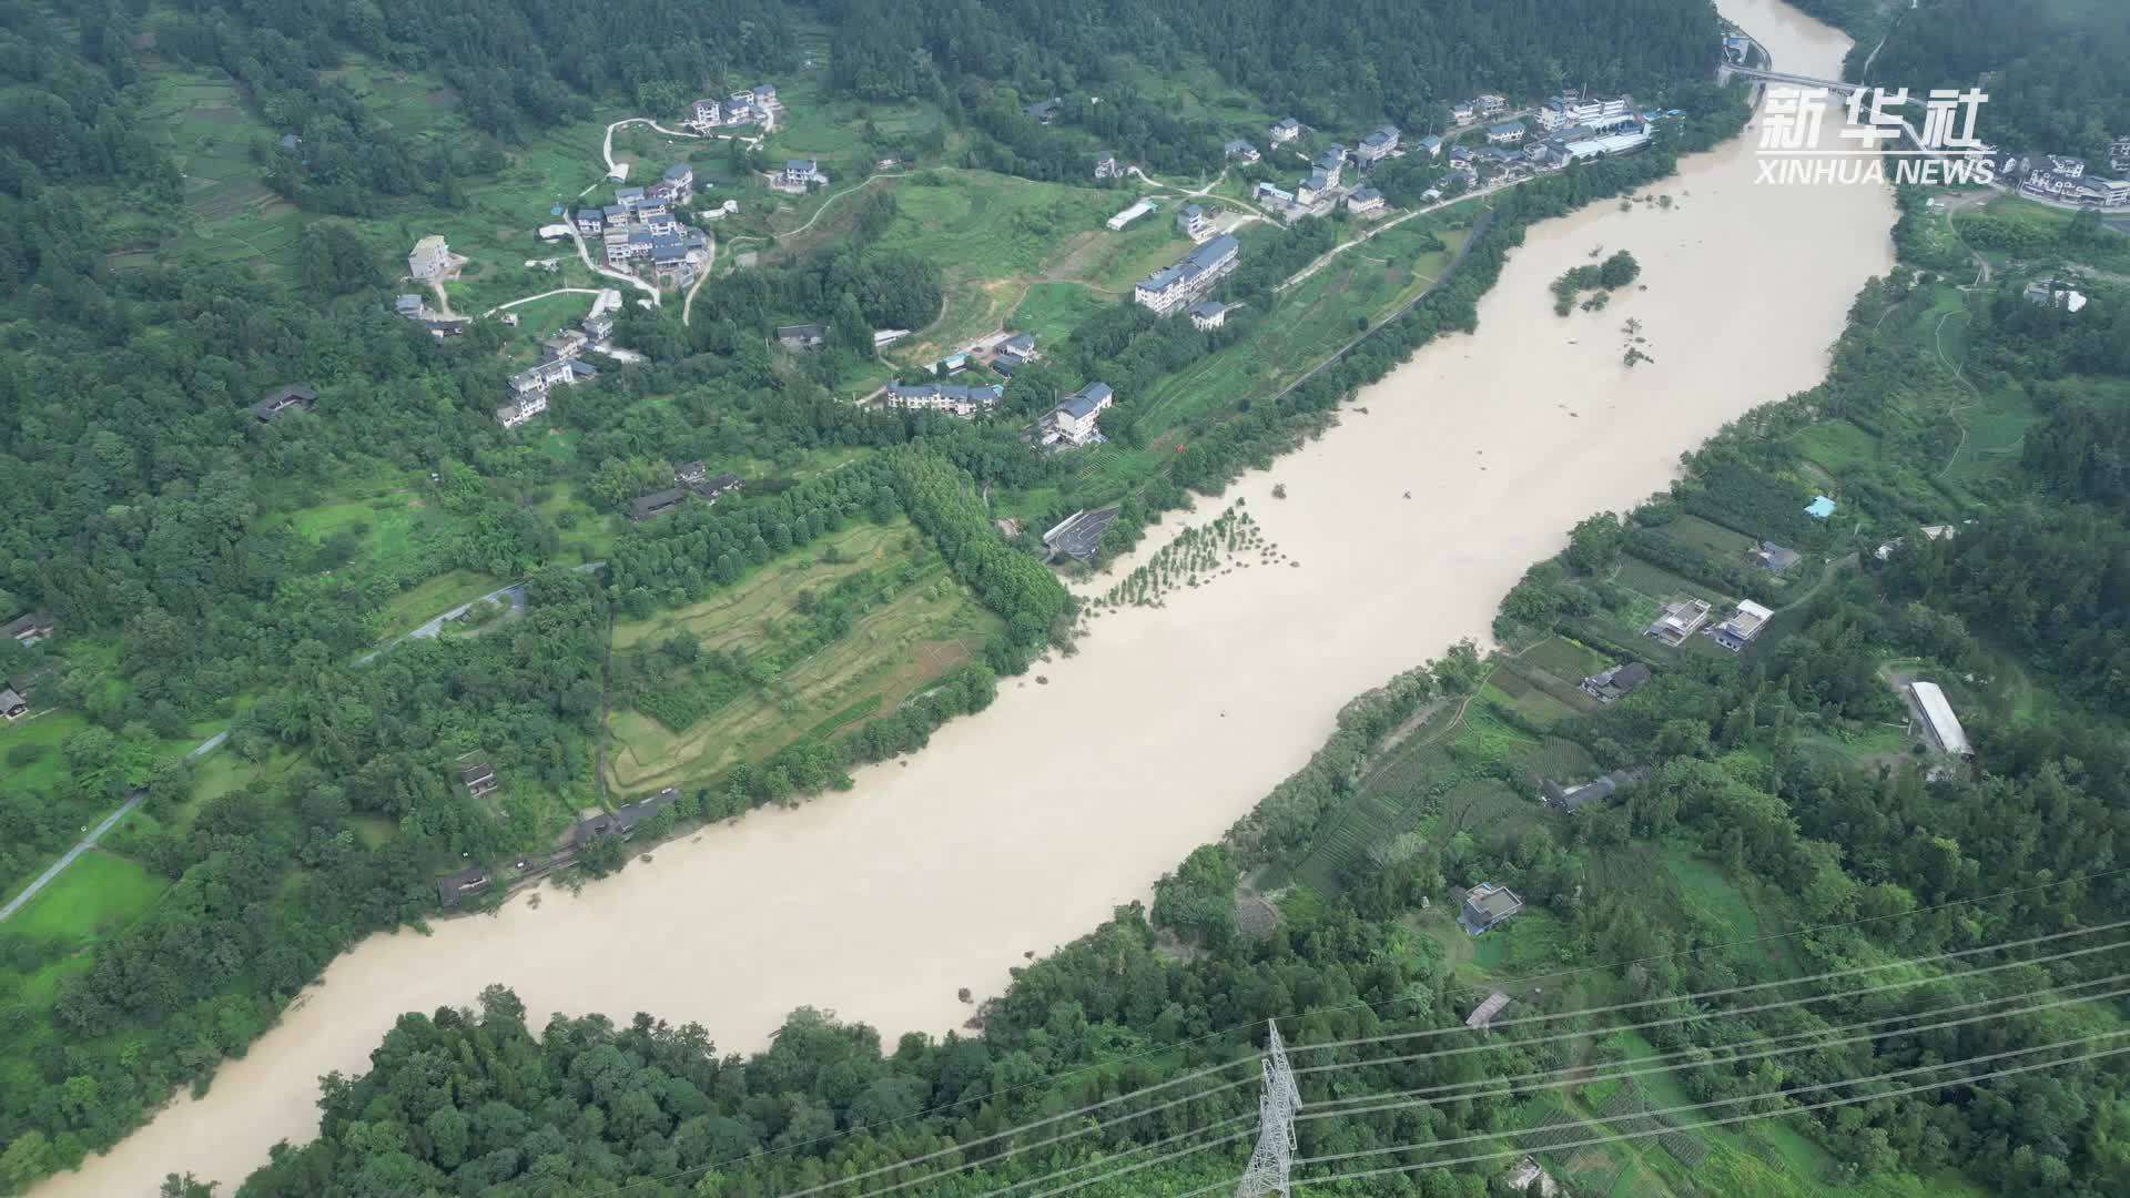
[[245, 109], [236, 81], [219, 70], [155, 72], [141, 126], [183, 173], [192, 220], [173, 249], [260, 273], [294, 269], [311, 217], [260, 183], [251, 147], [279, 132]]

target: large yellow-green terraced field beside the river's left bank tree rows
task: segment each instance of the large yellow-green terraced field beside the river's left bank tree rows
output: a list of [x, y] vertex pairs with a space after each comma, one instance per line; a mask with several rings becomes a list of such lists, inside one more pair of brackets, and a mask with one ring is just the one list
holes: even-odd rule
[[799, 550], [701, 603], [613, 629], [616, 650], [686, 631], [705, 652], [739, 650], [775, 661], [794, 635], [788, 614], [801, 593], [822, 593], [861, 571], [916, 567], [843, 635], [786, 665], [765, 686], [714, 686], [716, 693], [703, 697], [709, 710], [686, 729], [637, 710], [613, 712], [607, 767], [616, 789], [639, 793], [701, 780], [733, 761], [760, 761], [805, 735], [833, 738], [865, 716], [895, 710], [969, 661], [999, 627], [937, 554], [914, 544], [907, 522], [863, 524], [833, 546], [839, 561], [829, 561], [818, 546]]

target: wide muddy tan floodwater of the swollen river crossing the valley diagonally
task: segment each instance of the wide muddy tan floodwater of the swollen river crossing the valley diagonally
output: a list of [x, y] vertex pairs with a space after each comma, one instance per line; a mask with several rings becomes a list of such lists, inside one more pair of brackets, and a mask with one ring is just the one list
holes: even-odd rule
[[[1838, 75], [1838, 32], [1776, 0], [1719, 6], [1783, 70]], [[1885, 190], [1755, 185], [1751, 134], [1651, 194], [1674, 203], [1534, 228], [1476, 335], [1425, 347], [1357, 401], [1367, 416], [1238, 484], [1299, 567], [1108, 614], [1076, 657], [1037, 667], [1048, 684], [1007, 682], [848, 793], [660, 846], [579, 895], [375, 936], [207, 1098], [36, 1194], [147, 1196], [170, 1170], [234, 1189], [275, 1140], [315, 1132], [320, 1074], [362, 1070], [398, 1013], [471, 1004], [490, 983], [515, 987], [535, 1025], [650, 1010], [703, 1023], [720, 1049], [760, 1047], [801, 1004], [890, 1042], [961, 1025], [961, 987], [997, 993], [1025, 953], [1146, 897], [1301, 765], [1346, 699], [1482, 637], [1570, 524], [1664, 488], [1723, 422], [1819, 382], [1851, 296], [1891, 264]], [[1549, 284], [1600, 245], [1634, 252], [1646, 290], [1557, 318]], [[1632, 371], [1629, 318], [1653, 358]]]

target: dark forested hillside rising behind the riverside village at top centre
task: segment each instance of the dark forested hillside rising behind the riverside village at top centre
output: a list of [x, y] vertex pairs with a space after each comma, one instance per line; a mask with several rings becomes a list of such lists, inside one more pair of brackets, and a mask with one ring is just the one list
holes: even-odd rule
[[1446, 130], [1478, 92], [1649, 92], [1702, 75], [1717, 45], [1704, 0], [1370, 0], [1042, 4], [861, 0], [824, 4], [835, 83], [867, 98], [948, 96], [990, 132], [1001, 168], [1067, 177], [1091, 145], [1046, 136], [1020, 107], [1065, 100], [1067, 124], [1159, 166], [1218, 162], [1216, 128], [1174, 111], [1195, 62], [1312, 124], [1389, 117]]

